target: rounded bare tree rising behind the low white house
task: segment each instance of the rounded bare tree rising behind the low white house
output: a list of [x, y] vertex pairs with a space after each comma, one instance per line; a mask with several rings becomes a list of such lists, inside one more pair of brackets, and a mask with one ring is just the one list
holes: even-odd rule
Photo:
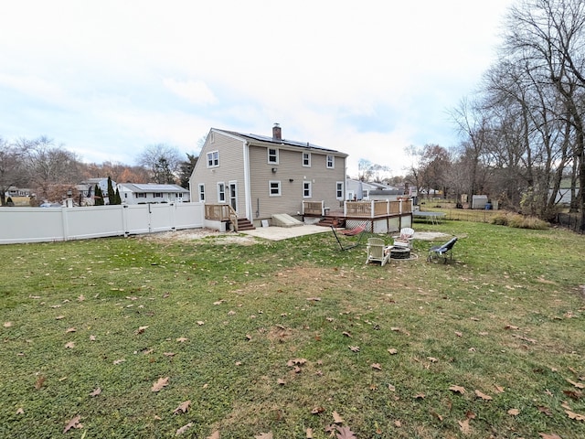
[[157, 144], [144, 148], [138, 157], [138, 165], [150, 172], [154, 183], [176, 183], [181, 166], [181, 154], [174, 146]]

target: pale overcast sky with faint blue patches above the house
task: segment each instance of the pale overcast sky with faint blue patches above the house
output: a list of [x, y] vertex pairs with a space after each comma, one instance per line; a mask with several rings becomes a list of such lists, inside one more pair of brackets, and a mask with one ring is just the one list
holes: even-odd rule
[[448, 112], [495, 61], [513, 0], [15, 0], [0, 5], [0, 137], [85, 162], [198, 153], [211, 127], [404, 174], [458, 143]]

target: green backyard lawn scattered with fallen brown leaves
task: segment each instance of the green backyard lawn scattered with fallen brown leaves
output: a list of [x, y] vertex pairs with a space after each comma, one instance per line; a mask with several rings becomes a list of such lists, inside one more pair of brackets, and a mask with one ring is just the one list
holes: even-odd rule
[[415, 229], [0, 246], [0, 437], [585, 437], [585, 237]]

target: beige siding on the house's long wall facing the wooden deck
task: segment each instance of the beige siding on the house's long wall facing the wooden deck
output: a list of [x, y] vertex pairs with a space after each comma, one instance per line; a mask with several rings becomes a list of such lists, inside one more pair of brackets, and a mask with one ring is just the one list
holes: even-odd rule
[[[265, 146], [250, 146], [253, 219], [271, 218], [275, 213], [295, 215], [303, 209], [303, 199], [324, 200], [332, 209], [338, 206], [335, 185], [337, 181], [345, 181], [345, 157], [335, 156], [335, 169], [327, 169], [324, 154], [312, 150], [311, 167], [306, 167], [302, 153], [302, 149], [279, 148], [279, 163], [274, 165], [268, 163]], [[271, 197], [269, 181], [281, 182], [280, 197]], [[303, 181], [311, 181], [311, 198], [303, 198]]]

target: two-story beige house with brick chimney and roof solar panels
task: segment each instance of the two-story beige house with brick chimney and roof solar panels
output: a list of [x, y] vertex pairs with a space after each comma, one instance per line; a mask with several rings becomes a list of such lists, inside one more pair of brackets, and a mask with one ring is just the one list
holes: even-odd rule
[[308, 142], [212, 128], [189, 180], [191, 198], [227, 204], [255, 226], [274, 214], [298, 215], [303, 201], [338, 206], [346, 194], [345, 153]]

